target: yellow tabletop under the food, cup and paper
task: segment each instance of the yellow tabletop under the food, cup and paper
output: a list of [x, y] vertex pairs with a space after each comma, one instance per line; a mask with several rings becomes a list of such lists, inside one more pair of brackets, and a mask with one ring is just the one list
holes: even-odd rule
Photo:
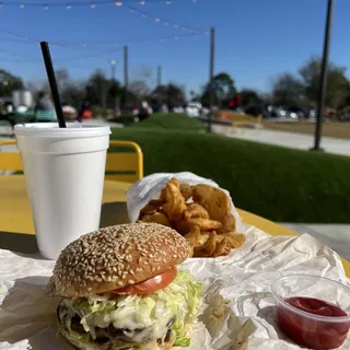
[[[126, 190], [129, 186], [128, 183], [105, 180], [101, 226], [128, 222], [125, 202]], [[272, 221], [242, 209], [237, 209], [237, 211], [243, 222], [273, 236], [296, 235], [295, 232]], [[34, 225], [24, 176], [0, 176], [0, 248], [7, 241], [7, 248], [21, 246], [23, 250], [27, 245], [30, 250], [25, 253], [33, 253], [32, 250], [37, 249], [33, 235]], [[350, 277], [350, 262], [342, 259], [342, 264], [347, 276]]]

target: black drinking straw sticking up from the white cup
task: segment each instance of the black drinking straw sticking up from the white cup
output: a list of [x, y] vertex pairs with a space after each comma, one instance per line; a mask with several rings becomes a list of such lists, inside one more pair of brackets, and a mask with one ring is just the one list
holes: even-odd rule
[[51, 55], [50, 55], [50, 50], [48, 48], [47, 42], [42, 42], [40, 47], [42, 47], [42, 52], [43, 52], [44, 62], [45, 62], [45, 67], [46, 67], [48, 82], [49, 82], [50, 89], [51, 89], [56, 115], [57, 115], [57, 119], [58, 119], [58, 126], [60, 128], [67, 128], [65, 116], [63, 116], [63, 110], [62, 110], [62, 106], [61, 106], [61, 101], [60, 101], [59, 93], [58, 93], [57, 81], [56, 81], [56, 77], [55, 77], [55, 70], [54, 70], [54, 66], [52, 66]]

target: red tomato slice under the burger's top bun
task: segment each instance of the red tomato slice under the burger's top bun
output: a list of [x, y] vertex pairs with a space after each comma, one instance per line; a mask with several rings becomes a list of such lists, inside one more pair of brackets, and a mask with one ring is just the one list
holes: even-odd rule
[[138, 294], [138, 295], [152, 294], [171, 284], [175, 280], [176, 275], [177, 275], [176, 267], [173, 267], [172, 269], [161, 275], [154, 276], [153, 278], [147, 281], [116, 289], [112, 291], [112, 293]]

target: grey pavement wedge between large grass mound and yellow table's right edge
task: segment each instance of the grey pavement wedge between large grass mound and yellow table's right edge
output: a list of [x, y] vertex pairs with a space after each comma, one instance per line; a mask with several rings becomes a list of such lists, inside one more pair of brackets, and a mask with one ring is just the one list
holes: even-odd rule
[[281, 223], [298, 233], [308, 233], [350, 260], [350, 225]]

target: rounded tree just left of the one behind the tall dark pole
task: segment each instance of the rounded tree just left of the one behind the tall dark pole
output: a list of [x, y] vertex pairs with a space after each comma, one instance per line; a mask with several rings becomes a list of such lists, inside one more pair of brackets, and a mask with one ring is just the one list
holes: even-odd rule
[[280, 74], [272, 85], [272, 102], [280, 106], [301, 106], [304, 103], [303, 82], [291, 73]]

